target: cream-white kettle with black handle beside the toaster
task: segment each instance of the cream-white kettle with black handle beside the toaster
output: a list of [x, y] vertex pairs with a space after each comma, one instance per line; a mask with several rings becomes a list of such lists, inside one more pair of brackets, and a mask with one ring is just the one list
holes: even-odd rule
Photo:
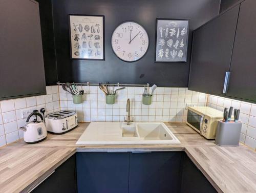
[[[29, 122], [29, 119], [35, 115], [36, 118]], [[37, 116], [40, 117], [41, 121], [37, 121]], [[42, 115], [37, 112], [31, 113], [27, 120], [26, 125], [24, 127], [20, 127], [21, 130], [24, 131], [24, 141], [26, 143], [37, 143], [40, 142], [47, 137], [46, 125]]]

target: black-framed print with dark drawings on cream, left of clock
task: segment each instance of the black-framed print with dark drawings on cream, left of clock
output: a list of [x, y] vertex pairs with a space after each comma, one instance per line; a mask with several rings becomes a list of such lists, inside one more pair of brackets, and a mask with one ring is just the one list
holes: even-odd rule
[[105, 60], [104, 15], [69, 15], [71, 59]]

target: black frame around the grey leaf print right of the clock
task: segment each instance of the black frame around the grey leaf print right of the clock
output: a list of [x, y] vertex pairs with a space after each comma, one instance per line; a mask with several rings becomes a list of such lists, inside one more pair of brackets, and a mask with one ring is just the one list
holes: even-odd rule
[[[186, 34], [185, 37], [186, 38], [186, 41], [185, 41], [185, 47], [184, 47], [184, 52], [183, 54], [185, 53], [185, 57], [183, 57], [184, 59], [180, 59], [180, 60], [175, 60], [175, 59], [170, 59], [170, 60], [167, 60], [167, 58], [165, 60], [160, 60], [160, 59], [157, 59], [157, 51], [158, 51], [158, 41], [159, 41], [159, 30], [158, 30], [158, 22], [159, 20], [164, 20], [164, 21], [168, 21], [168, 22], [187, 22], [187, 27], [186, 27]], [[188, 47], [188, 35], [189, 35], [189, 19], [172, 19], [172, 18], [156, 18], [156, 37], [155, 37], [155, 62], [175, 62], [175, 63], [185, 63], [187, 62], [187, 47]], [[176, 38], [177, 39], [177, 38]], [[177, 50], [178, 52], [178, 50]], [[177, 57], [176, 57], [177, 58]]]

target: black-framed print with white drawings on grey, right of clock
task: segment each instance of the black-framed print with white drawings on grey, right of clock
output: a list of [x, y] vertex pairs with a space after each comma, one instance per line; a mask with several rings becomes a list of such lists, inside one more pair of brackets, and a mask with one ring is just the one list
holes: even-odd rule
[[186, 62], [188, 19], [156, 19], [155, 62]]

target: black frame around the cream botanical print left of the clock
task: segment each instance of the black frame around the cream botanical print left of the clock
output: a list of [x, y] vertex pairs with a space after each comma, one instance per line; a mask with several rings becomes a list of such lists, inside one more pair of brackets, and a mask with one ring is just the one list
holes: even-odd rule
[[[71, 35], [71, 21], [70, 16], [90, 16], [90, 17], [102, 17], [102, 37], [103, 37], [103, 58], [74, 58], [72, 57], [72, 35]], [[105, 60], [105, 16], [104, 15], [83, 15], [83, 14], [69, 14], [69, 40], [70, 40], [70, 59], [72, 60]]]

